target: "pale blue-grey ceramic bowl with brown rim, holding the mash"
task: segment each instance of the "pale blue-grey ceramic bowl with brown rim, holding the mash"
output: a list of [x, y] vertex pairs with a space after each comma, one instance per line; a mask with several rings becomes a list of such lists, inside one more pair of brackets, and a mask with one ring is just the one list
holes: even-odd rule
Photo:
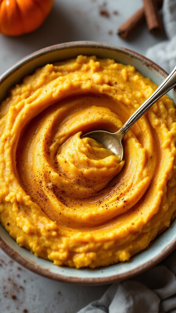
[[[41, 49], [21, 59], [0, 77], [0, 102], [8, 89], [19, 83], [22, 78], [47, 63], [76, 57], [79, 54], [96, 55], [100, 58], [112, 58], [123, 64], [131, 64], [144, 76], [160, 85], [167, 73], [157, 64], [129, 49], [101, 42], [70, 42]], [[168, 92], [176, 103], [176, 92]], [[56, 266], [48, 260], [37, 258], [27, 249], [18, 246], [7, 231], [0, 225], [0, 247], [24, 267], [54, 280], [77, 284], [110, 284], [129, 279], [162, 261], [176, 248], [176, 219], [170, 227], [158, 236], [148, 249], [132, 257], [128, 262], [97, 269], [75, 269]]]

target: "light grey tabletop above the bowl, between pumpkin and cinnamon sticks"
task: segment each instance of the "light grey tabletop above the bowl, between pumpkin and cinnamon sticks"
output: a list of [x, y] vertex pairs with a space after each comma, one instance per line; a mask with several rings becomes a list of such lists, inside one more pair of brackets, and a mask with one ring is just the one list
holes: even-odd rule
[[[116, 34], [141, 7], [142, 0], [55, 0], [52, 12], [38, 30], [20, 37], [0, 36], [0, 74], [38, 49], [75, 40], [109, 42], [145, 54], [148, 47], [165, 39], [163, 32], [151, 35], [143, 24], [128, 40]], [[101, 15], [101, 10], [107, 11], [109, 18]]]

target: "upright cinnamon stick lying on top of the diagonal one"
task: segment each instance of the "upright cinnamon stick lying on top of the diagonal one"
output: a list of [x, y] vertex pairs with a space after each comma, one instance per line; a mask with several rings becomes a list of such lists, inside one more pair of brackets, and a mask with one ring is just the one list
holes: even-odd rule
[[150, 33], [157, 33], [162, 28], [162, 22], [158, 12], [157, 4], [153, 0], [143, 0], [143, 3], [148, 30]]

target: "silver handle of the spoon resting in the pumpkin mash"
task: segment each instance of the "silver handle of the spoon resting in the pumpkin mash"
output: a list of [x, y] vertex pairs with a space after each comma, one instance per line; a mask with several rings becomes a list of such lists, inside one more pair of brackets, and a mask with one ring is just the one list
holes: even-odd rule
[[123, 137], [131, 126], [149, 109], [151, 106], [176, 85], [176, 66], [163, 83], [153, 92], [153, 94], [130, 116], [127, 122], [120, 129]]

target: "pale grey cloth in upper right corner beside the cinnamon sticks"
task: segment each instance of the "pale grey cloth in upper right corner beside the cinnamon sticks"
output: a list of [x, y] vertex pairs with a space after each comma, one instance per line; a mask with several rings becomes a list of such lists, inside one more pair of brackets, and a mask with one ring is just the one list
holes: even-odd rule
[[176, 65], [176, 0], [165, 0], [162, 11], [163, 26], [168, 40], [149, 48], [146, 57], [169, 74]]

